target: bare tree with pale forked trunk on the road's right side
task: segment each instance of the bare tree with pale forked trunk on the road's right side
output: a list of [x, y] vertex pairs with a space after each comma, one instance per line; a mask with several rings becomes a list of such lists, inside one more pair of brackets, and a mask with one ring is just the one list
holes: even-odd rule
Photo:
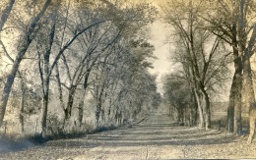
[[[164, 20], [176, 31], [173, 61], [181, 64], [182, 79], [189, 81], [198, 105], [200, 127], [211, 128], [209, 92], [227, 80], [228, 56], [220, 55], [224, 45], [219, 37], [204, 29], [199, 14], [201, 2], [173, 2], [163, 7]], [[214, 39], [214, 40], [213, 40]], [[211, 47], [207, 50], [207, 47]], [[203, 116], [204, 114], [204, 116]], [[205, 122], [204, 122], [205, 121]]]

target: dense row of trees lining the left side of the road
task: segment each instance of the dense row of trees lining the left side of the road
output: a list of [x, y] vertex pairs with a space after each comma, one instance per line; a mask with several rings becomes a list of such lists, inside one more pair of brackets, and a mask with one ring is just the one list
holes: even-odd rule
[[0, 124], [10, 95], [19, 99], [14, 104], [20, 106], [21, 131], [25, 115], [41, 111], [42, 135], [50, 126], [49, 113], [57, 117], [61, 131], [86, 125], [86, 112], [96, 127], [122, 125], [160, 101], [156, 78], [147, 70], [155, 58], [144, 32], [156, 14], [151, 5], [107, 0], [0, 3]]

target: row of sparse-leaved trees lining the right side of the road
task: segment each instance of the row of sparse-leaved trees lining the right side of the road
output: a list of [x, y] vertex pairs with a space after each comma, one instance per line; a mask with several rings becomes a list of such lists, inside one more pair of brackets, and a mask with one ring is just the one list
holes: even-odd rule
[[[243, 101], [248, 113], [249, 108], [253, 109], [255, 94], [250, 59], [256, 49], [255, 7], [253, 0], [171, 1], [161, 7], [164, 22], [175, 32], [171, 36], [175, 45], [171, 60], [177, 67], [175, 73], [164, 79], [165, 98], [177, 110], [187, 105], [191, 113], [196, 110], [198, 116], [192, 114], [191, 119], [198, 117], [200, 127], [211, 127], [210, 101], [224, 89], [233, 71], [230, 62], [234, 72], [227, 130], [241, 133]], [[193, 104], [197, 107], [193, 108]]]

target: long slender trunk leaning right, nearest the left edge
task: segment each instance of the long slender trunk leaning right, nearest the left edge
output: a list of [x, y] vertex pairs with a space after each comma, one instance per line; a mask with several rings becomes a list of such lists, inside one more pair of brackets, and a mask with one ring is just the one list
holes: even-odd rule
[[5, 116], [5, 111], [6, 111], [6, 106], [7, 102], [9, 99], [9, 95], [16, 77], [16, 74], [18, 72], [19, 66], [32, 42], [32, 34], [33, 30], [36, 27], [37, 23], [39, 22], [40, 18], [43, 16], [45, 13], [46, 9], [48, 8], [51, 0], [47, 0], [43, 6], [43, 9], [40, 11], [38, 15], [34, 17], [34, 20], [32, 21], [31, 26], [28, 29], [28, 32], [26, 32], [25, 37], [24, 37], [24, 42], [21, 45], [21, 50], [18, 52], [16, 59], [14, 61], [14, 64], [12, 66], [11, 72], [7, 76], [7, 80], [4, 86], [4, 90], [0, 99], [0, 126], [3, 124], [4, 116]]

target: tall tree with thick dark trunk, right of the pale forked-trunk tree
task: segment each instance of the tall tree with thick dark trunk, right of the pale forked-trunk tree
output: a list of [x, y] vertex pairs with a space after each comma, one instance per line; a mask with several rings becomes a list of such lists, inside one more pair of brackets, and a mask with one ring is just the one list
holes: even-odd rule
[[[255, 101], [251, 78], [250, 57], [255, 45], [255, 2], [251, 0], [209, 1], [209, 10], [204, 20], [210, 23], [212, 32], [232, 47], [234, 75], [229, 93], [227, 110], [227, 129], [241, 133], [241, 101], [245, 99], [246, 108]], [[243, 82], [242, 82], [243, 81]], [[245, 91], [242, 94], [241, 90]]]

